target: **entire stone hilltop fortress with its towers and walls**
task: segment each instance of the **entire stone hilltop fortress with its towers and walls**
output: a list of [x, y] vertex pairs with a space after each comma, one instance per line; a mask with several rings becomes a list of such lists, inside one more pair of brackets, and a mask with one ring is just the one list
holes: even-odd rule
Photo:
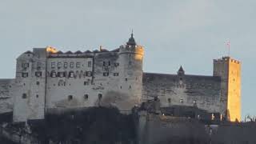
[[241, 120], [241, 63], [214, 59], [213, 76], [143, 72], [144, 48], [133, 34], [115, 50], [68, 51], [34, 48], [17, 58], [14, 79], [0, 79], [0, 113], [14, 122], [44, 119], [56, 110], [134, 106], [158, 98], [161, 107], [197, 106], [229, 121]]

